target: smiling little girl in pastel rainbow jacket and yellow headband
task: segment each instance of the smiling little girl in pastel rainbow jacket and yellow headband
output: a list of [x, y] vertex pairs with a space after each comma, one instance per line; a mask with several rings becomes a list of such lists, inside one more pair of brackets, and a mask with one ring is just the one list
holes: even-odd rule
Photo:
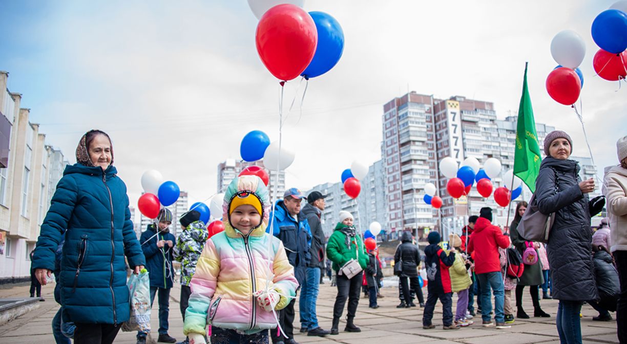
[[268, 190], [257, 176], [240, 176], [223, 203], [224, 231], [206, 242], [190, 286], [183, 333], [190, 344], [266, 344], [275, 311], [296, 295], [298, 282], [283, 243], [266, 233]]

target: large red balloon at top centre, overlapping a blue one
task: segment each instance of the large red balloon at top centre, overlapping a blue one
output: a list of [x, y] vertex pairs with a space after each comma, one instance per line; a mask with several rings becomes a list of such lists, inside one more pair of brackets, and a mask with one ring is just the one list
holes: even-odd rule
[[276, 78], [297, 78], [314, 58], [318, 31], [302, 8], [280, 4], [261, 16], [255, 33], [261, 62]]

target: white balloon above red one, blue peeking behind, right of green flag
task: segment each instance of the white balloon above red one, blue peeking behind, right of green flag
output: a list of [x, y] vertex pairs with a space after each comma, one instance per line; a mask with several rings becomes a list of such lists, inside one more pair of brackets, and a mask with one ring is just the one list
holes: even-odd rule
[[572, 105], [584, 84], [579, 65], [586, 56], [586, 44], [575, 31], [564, 30], [551, 41], [551, 55], [558, 66], [547, 76], [547, 92], [557, 103]]

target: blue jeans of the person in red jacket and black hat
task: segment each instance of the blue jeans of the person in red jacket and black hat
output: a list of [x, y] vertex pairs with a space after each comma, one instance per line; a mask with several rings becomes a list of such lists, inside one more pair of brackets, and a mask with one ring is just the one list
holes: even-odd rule
[[494, 320], [497, 323], [504, 323], [505, 285], [503, 284], [503, 275], [500, 271], [478, 273], [477, 280], [481, 285], [481, 318], [483, 321], [492, 321], [492, 316], [490, 316], [490, 311], [492, 311], [490, 288], [492, 288], [494, 292]]

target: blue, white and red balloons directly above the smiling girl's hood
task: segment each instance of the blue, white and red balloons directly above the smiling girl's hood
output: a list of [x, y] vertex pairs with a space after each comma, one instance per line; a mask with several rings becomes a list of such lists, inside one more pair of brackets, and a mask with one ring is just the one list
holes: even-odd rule
[[[288, 168], [296, 156], [290, 149], [283, 145], [279, 146], [279, 141], [270, 142], [268, 135], [260, 130], [253, 130], [244, 136], [240, 144], [240, 155], [244, 161], [249, 162], [263, 159], [263, 166], [271, 171], [281, 171]], [[268, 185], [268, 181], [266, 181], [268, 174], [263, 169], [261, 171], [247, 171], [245, 174], [257, 175], [266, 186]]]

